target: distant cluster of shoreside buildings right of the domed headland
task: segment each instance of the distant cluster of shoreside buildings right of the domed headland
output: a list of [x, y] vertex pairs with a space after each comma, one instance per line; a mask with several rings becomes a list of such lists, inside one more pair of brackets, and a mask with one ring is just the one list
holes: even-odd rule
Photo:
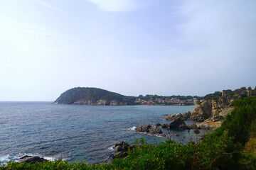
[[136, 98], [134, 101], [137, 104], [141, 105], [157, 105], [157, 104], [163, 104], [163, 105], [175, 105], [175, 104], [186, 104], [186, 105], [194, 105], [197, 102], [202, 102], [203, 99], [198, 98], [189, 98], [181, 100], [180, 98], [149, 98], [149, 100], [142, 99], [142, 98]]

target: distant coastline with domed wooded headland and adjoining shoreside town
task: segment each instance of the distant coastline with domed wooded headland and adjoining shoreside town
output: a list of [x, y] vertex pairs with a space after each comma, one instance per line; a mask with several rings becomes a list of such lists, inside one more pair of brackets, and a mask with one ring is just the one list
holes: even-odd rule
[[195, 106], [201, 96], [124, 96], [111, 91], [90, 87], [76, 87], [60, 95], [55, 104], [80, 104], [103, 106]]

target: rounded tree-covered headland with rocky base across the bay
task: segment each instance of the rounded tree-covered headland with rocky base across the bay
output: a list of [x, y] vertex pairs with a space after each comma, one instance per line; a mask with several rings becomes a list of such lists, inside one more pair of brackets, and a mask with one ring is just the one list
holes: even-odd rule
[[69, 89], [54, 101], [55, 104], [82, 104], [82, 105], [128, 105], [133, 104], [133, 98], [123, 96], [103, 89], [77, 87]]

